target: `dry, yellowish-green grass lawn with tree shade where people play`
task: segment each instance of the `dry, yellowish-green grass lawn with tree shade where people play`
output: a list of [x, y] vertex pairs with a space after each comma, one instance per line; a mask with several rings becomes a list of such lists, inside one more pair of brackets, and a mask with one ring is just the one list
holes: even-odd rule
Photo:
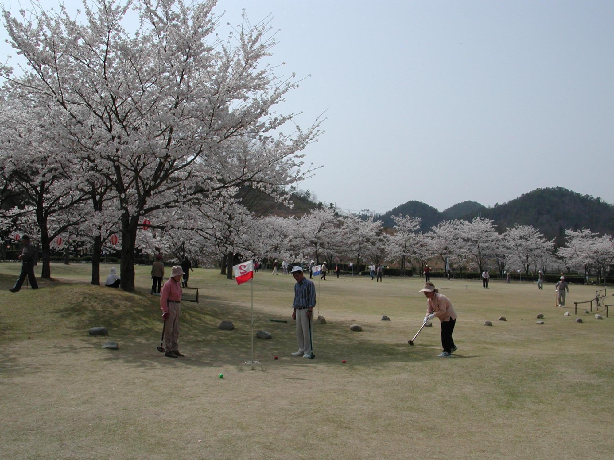
[[[614, 320], [573, 314], [591, 286], [570, 286], [562, 309], [553, 285], [434, 278], [459, 313], [459, 350], [443, 359], [438, 321], [406, 343], [426, 310], [420, 278], [315, 280], [327, 324], [314, 327], [311, 361], [290, 356], [292, 277], [260, 272], [254, 331], [273, 339], [254, 339], [263, 370], [241, 370], [249, 283], [196, 269], [200, 303], [182, 304], [186, 356], [171, 359], [155, 349], [149, 267], [136, 267], [136, 293], [91, 286], [90, 269], [52, 264], [53, 280], [14, 294], [20, 266], [0, 263], [0, 458], [612, 458]], [[222, 320], [236, 329], [217, 329]], [[89, 336], [93, 326], [109, 337]], [[120, 349], [101, 349], [106, 340]]]

